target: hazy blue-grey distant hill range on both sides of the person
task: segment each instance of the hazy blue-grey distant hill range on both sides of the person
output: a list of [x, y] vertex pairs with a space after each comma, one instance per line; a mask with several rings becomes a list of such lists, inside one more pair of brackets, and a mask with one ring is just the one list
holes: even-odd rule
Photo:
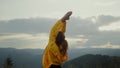
[[[6, 58], [11, 57], [14, 68], [42, 68], [43, 49], [0, 48], [0, 68]], [[86, 54], [120, 56], [120, 49], [69, 49], [69, 60]]]

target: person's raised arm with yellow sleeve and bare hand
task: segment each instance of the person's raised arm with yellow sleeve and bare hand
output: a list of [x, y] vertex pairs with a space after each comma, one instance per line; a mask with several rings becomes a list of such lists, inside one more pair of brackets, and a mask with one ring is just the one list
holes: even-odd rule
[[66, 31], [66, 20], [69, 20], [70, 16], [72, 15], [72, 12], [67, 12], [59, 21], [56, 22], [56, 24], [53, 26], [51, 33], [50, 33], [50, 39], [49, 41], [55, 41], [55, 38], [58, 34], [58, 32], [65, 33]]

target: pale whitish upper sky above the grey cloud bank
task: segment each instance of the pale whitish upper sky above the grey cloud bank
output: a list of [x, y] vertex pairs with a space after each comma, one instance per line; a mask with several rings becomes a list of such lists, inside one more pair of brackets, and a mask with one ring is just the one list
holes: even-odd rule
[[119, 0], [0, 0], [0, 19], [59, 18], [72, 10], [73, 16], [120, 15]]

